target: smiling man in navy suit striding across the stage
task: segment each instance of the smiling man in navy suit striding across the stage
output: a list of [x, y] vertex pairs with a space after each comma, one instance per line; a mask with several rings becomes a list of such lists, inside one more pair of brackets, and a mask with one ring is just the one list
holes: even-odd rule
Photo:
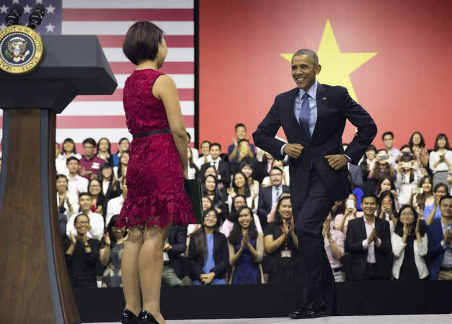
[[[275, 158], [290, 156], [291, 201], [304, 300], [302, 307], [290, 314], [292, 318], [337, 313], [322, 224], [334, 202], [349, 195], [347, 163], [356, 165], [376, 135], [374, 121], [346, 88], [316, 81], [320, 70], [314, 51], [298, 50], [292, 57], [292, 77], [297, 87], [276, 96], [253, 134], [255, 145]], [[343, 152], [341, 138], [347, 119], [358, 132]], [[275, 138], [281, 126], [287, 144]]]

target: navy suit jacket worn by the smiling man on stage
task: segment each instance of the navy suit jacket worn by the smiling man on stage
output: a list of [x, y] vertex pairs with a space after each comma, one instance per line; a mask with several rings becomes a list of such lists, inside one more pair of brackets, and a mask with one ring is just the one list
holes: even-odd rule
[[[345, 153], [351, 158], [351, 163], [357, 165], [377, 133], [376, 124], [364, 108], [350, 97], [345, 87], [319, 83], [317, 121], [311, 140], [308, 140], [294, 114], [298, 94], [299, 89], [294, 88], [276, 96], [270, 111], [252, 134], [255, 145], [281, 159], [284, 142], [275, 135], [282, 127], [288, 143], [300, 143], [304, 147], [298, 158], [290, 158], [292, 207], [301, 208], [306, 199], [311, 161], [331, 199], [346, 199], [350, 192], [347, 167], [335, 171], [324, 156]], [[347, 119], [358, 131], [344, 152], [342, 133]]]

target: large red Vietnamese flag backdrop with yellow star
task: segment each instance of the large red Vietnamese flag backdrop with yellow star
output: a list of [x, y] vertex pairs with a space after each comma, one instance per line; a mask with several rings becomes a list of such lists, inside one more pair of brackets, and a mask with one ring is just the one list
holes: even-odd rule
[[[295, 87], [292, 54], [311, 48], [319, 82], [346, 86], [374, 118], [377, 148], [385, 131], [396, 148], [420, 131], [432, 149], [438, 133], [452, 136], [450, 17], [450, 1], [200, 0], [200, 142], [225, 152], [239, 122], [251, 135]], [[354, 131], [348, 123], [343, 141]]]

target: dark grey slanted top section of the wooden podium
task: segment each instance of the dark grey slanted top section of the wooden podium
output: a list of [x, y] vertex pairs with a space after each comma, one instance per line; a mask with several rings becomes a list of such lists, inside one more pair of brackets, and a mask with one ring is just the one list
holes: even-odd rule
[[41, 64], [28, 74], [0, 70], [0, 107], [61, 113], [77, 95], [111, 95], [118, 83], [95, 35], [43, 36]]

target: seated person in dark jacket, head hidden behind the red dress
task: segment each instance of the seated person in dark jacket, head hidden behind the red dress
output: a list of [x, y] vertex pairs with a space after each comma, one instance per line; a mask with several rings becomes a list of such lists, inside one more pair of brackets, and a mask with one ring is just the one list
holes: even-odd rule
[[187, 226], [171, 226], [168, 239], [163, 247], [163, 271], [161, 283], [165, 285], [182, 285], [184, 272], [181, 254], [187, 248]]

